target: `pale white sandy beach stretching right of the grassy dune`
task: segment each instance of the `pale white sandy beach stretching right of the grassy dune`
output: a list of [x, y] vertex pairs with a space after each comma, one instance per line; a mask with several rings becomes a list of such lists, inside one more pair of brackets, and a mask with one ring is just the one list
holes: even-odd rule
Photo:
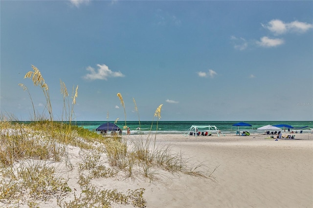
[[[182, 151], [184, 157], [203, 162], [211, 170], [218, 168], [209, 178], [160, 171], [152, 182], [140, 175], [93, 179], [92, 184], [122, 192], [145, 188], [147, 208], [312, 208], [313, 134], [296, 134], [295, 140], [266, 137], [157, 135], [158, 145], [171, 144], [172, 150]], [[79, 148], [69, 147], [69, 151], [74, 169], [63, 176], [70, 178], [68, 186], [73, 192], [64, 198], [66, 201], [73, 200], [74, 192], [80, 193]], [[55, 198], [39, 206], [59, 207]]]

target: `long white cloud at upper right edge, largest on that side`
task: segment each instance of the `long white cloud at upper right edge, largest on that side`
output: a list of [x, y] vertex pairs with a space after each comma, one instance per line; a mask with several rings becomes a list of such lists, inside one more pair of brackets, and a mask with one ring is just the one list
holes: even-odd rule
[[312, 24], [306, 22], [292, 21], [285, 23], [281, 20], [271, 20], [268, 24], [262, 24], [262, 26], [274, 33], [274, 35], [282, 35], [288, 32], [304, 33], [313, 28]]

